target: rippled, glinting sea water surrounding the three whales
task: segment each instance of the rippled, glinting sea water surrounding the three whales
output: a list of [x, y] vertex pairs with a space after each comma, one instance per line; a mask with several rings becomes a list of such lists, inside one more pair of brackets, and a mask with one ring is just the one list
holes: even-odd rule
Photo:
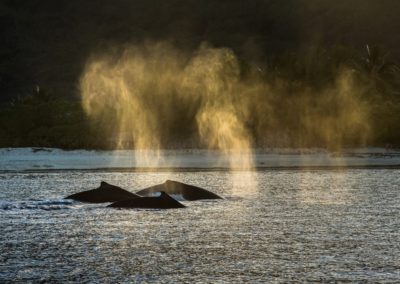
[[[0, 282], [400, 282], [400, 170], [1, 173]], [[222, 201], [117, 210], [63, 200], [175, 179]]]

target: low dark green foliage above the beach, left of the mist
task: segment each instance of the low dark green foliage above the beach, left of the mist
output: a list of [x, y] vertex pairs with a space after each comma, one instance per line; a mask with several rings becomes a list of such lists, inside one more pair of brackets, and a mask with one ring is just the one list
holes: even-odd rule
[[92, 147], [80, 103], [42, 90], [1, 107], [0, 129], [0, 147]]

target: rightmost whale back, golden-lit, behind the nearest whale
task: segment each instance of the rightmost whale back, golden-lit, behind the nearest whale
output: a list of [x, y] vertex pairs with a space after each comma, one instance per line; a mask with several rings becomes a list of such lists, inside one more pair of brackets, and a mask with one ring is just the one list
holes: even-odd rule
[[136, 192], [136, 194], [141, 196], [154, 196], [156, 192], [161, 191], [171, 195], [181, 195], [185, 200], [188, 201], [200, 199], [222, 199], [222, 197], [203, 188], [173, 180], [167, 180], [162, 184], [157, 184], [155, 186], [142, 189]]

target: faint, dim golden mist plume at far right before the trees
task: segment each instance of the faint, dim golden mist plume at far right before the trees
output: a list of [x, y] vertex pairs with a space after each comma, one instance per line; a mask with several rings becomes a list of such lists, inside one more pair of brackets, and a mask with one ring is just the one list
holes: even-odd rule
[[334, 151], [346, 146], [344, 141], [365, 145], [370, 137], [369, 105], [362, 100], [362, 91], [353, 72], [344, 69], [334, 86], [300, 94], [295, 100], [302, 108], [300, 145], [309, 145], [312, 139]]

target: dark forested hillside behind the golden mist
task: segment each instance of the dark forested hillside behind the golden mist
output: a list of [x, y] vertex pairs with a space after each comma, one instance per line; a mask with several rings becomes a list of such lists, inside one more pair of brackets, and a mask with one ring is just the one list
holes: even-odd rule
[[[284, 98], [273, 106], [295, 134], [301, 128], [296, 117], [285, 118], [290, 98], [305, 88], [317, 95], [343, 68], [351, 69], [369, 105], [372, 135], [365, 142], [400, 146], [399, 11], [397, 0], [3, 0], [0, 147], [113, 147], [106, 126], [91, 127], [81, 108], [79, 77], [93, 52], [147, 39], [170, 40], [184, 50], [203, 41], [229, 47], [244, 74], [256, 65], [266, 82], [285, 82]], [[264, 125], [252, 130], [260, 146], [263, 131], [276, 133]], [[182, 122], [171, 137], [190, 138], [191, 128]], [[358, 143], [344, 139], [348, 146]], [[300, 146], [322, 144], [313, 139]]]

